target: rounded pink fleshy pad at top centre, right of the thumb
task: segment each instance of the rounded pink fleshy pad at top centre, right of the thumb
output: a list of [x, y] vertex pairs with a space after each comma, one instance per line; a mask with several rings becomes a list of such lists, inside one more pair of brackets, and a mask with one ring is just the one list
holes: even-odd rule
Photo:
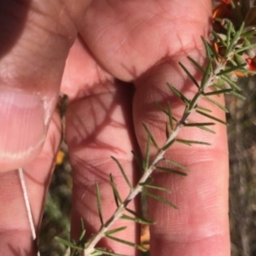
[[198, 47], [208, 34], [211, 3], [92, 1], [79, 32], [105, 70], [131, 81], [156, 63]]

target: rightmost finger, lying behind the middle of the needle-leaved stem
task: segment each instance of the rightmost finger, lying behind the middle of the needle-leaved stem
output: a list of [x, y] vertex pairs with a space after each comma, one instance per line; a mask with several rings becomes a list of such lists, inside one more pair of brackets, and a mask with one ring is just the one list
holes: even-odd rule
[[[198, 51], [190, 51], [199, 63]], [[195, 69], [186, 61], [185, 56], [173, 57], [172, 61], [160, 64], [137, 80], [134, 99], [135, 123], [144, 122], [154, 135], [159, 145], [166, 142], [166, 114], [152, 104], [160, 102], [167, 108], [172, 104], [172, 114], [177, 119], [182, 117], [184, 105], [173, 95], [166, 82], [174, 85], [189, 99], [195, 94], [196, 87], [178, 67], [181, 61], [189, 71], [200, 79]], [[224, 103], [223, 98], [216, 98]], [[200, 106], [212, 110], [211, 115], [224, 119], [224, 112], [207, 101]], [[189, 122], [209, 122], [199, 114], [193, 113]], [[212, 128], [212, 127], [211, 127]], [[189, 147], [174, 143], [166, 153], [166, 158], [177, 161], [189, 168], [188, 177], [180, 177], [164, 172], [153, 174], [154, 184], [171, 190], [171, 194], [154, 192], [177, 205], [178, 210], [165, 204], [149, 200], [149, 215], [157, 221], [151, 227], [152, 255], [230, 255], [228, 224], [228, 148], [226, 129], [222, 124], [213, 127], [216, 134], [198, 128], [183, 128], [177, 138], [203, 141], [210, 146], [195, 145]], [[145, 152], [146, 134], [140, 125], [136, 126], [138, 142]], [[156, 150], [151, 148], [154, 159]]]

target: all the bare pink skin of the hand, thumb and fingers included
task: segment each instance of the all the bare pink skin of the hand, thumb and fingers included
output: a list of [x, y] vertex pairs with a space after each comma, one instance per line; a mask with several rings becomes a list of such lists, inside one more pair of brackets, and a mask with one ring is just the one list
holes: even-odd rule
[[[19, 7], [19, 13], [14, 7]], [[152, 102], [165, 105], [169, 100], [174, 115], [180, 116], [182, 104], [172, 96], [166, 82], [188, 97], [193, 95], [195, 89], [177, 62], [182, 61], [200, 79], [186, 56], [192, 55], [203, 63], [201, 35], [207, 37], [210, 31], [211, 13], [210, 0], [4, 0], [0, 3], [1, 19], [12, 20], [1, 23], [8, 24], [2, 25], [5, 28], [2, 31], [9, 43], [6, 39], [0, 44], [3, 45], [0, 105], [4, 110], [0, 110], [0, 119], [4, 120], [0, 135], [1, 255], [34, 255], [14, 169], [24, 166], [39, 230], [44, 196], [61, 140], [61, 122], [58, 114], [53, 113], [60, 85], [70, 99], [66, 140], [73, 166], [71, 232], [77, 238], [81, 217], [89, 233], [100, 226], [96, 182], [101, 189], [105, 220], [115, 207], [108, 184], [110, 172], [120, 195], [123, 198], [127, 195], [127, 185], [110, 156], [119, 159], [135, 183], [138, 172], [131, 150], [144, 152], [146, 134], [142, 122], [148, 124], [158, 143], [164, 143], [166, 119]], [[10, 32], [14, 36], [9, 36]], [[208, 102], [201, 105], [210, 106]], [[224, 119], [220, 110], [209, 108], [216, 117]], [[15, 125], [11, 125], [14, 119]], [[206, 121], [196, 115], [191, 119]], [[151, 255], [228, 256], [225, 127], [215, 125], [216, 135], [186, 129], [180, 137], [212, 145], [174, 144], [166, 156], [188, 166], [189, 176], [153, 175], [154, 183], [172, 191], [160, 195], [173, 201], [179, 210], [148, 201], [149, 217], [157, 221], [150, 230]], [[154, 155], [154, 148], [151, 154]], [[137, 204], [131, 202], [130, 207]], [[128, 228], [119, 236], [137, 241], [137, 227], [124, 221], [113, 227], [122, 225]], [[101, 245], [116, 253], [136, 255], [132, 247], [113, 241], [102, 241]]]

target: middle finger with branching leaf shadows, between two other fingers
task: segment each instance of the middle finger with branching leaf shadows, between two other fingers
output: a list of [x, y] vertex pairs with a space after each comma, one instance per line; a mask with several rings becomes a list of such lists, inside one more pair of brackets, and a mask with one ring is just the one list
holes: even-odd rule
[[[76, 70], [74, 68], [72, 71], [69, 65], [77, 67], [83, 61], [84, 73], [73, 80], [73, 71]], [[73, 83], [81, 85], [74, 93], [76, 97], [69, 104], [66, 116], [66, 137], [73, 166], [72, 237], [77, 241], [82, 232], [81, 218], [87, 238], [102, 225], [97, 210], [96, 183], [101, 193], [104, 223], [116, 209], [110, 174], [122, 200], [128, 195], [130, 188], [111, 156], [119, 160], [133, 183], [135, 177], [131, 149], [136, 147], [136, 143], [131, 119], [131, 84], [120, 84], [111, 79], [84, 51], [81, 42], [74, 44], [71, 49], [67, 68], [69, 73], [64, 74], [67, 81], [63, 79], [66, 89]], [[131, 202], [129, 207], [135, 209], [136, 203]], [[127, 229], [114, 235], [124, 240], [137, 241], [137, 230], [131, 222], [121, 220], [110, 229], [122, 226], [127, 226]], [[103, 240], [99, 246], [116, 253], [135, 254], [133, 247], [116, 241]]]

